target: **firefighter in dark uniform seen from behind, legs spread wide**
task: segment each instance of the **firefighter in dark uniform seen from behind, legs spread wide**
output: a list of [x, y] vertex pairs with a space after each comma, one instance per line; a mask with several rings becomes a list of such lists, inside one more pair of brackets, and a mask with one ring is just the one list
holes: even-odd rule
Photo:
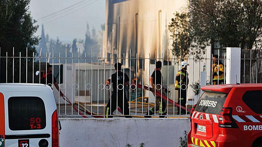
[[[111, 77], [106, 81], [106, 84], [112, 83], [113, 85], [111, 100], [109, 99], [105, 110], [106, 118], [113, 118], [112, 116], [113, 112], [117, 109], [117, 107], [119, 107], [122, 110], [122, 112], [124, 112], [124, 116], [126, 118], [132, 118], [132, 116], [130, 116], [129, 113], [129, 105], [125, 92], [126, 85], [129, 85], [129, 78], [127, 74], [121, 72], [121, 66], [122, 66], [121, 63], [116, 63], [115, 64], [116, 73], [111, 75]], [[123, 87], [123, 83], [125, 83], [124, 87]], [[123, 92], [124, 92], [124, 97], [123, 97]], [[124, 106], [123, 106], [123, 100], [124, 100]]]

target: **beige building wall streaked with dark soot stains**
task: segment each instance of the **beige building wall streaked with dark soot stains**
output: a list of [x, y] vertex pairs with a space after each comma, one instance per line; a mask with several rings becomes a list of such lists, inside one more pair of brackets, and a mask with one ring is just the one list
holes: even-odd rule
[[[106, 40], [106, 50], [107, 53], [115, 54], [118, 48], [118, 57], [123, 57], [125, 53], [126, 57], [130, 56], [129, 49], [131, 49], [131, 57], [154, 59], [155, 57], [160, 60], [163, 53], [163, 61], [167, 61], [167, 58], [174, 58], [172, 55], [172, 40], [170, 38], [170, 32], [168, 25], [173, 18], [176, 11], [186, 11], [187, 3], [185, 0], [107, 0], [106, 1], [106, 20], [105, 20], [105, 36]], [[168, 52], [169, 49], [169, 52]], [[156, 52], [156, 53], [155, 53]], [[168, 56], [169, 55], [169, 56]], [[211, 58], [211, 46], [207, 47], [207, 56], [203, 55], [202, 58]], [[177, 58], [177, 57], [176, 57]], [[187, 61], [190, 64], [188, 67], [189, 73], [189, 84], [194, 85], [199, 83], [201, 75], [199, 74], [203, 71], [204, 63], [206, 64], [206, 79], [210, 81], [210, 65], [211, 60], [194, 60], [193, 69], [193, 56], [189, 55]], [[142, 60], [138, 60], [138, 77], [142, 77], [142, 70], [139, 69], [139, 64]], [[154, 60], [153, 60], [154, 61]], [[176, 64], [174, 65], [174, 60], [169, 60], [171, 66], [174, 66], [175, 74], [180, 69], [176, 59]], [[183, 61], [183, 60], [182, 60]], [[129, 67], [130, 60], [126, 60], [126, 68]], [[135, 59], [131, 59], [131, 63], [135, 63]], [[200, 63], [199, 63], [200, 62]], [[165, 65], [165, 64], [164, 64]], [[131, 64], [131, 67], [135, 67], [135, 64]], [[148, 83], [148, 78], [152, 74], [154, 68], [154, 63], [151, 61], [149, 65], [149, 60], [144, 60], [144, 82]], [[150, 72], [149, 72], [150, 69]], [[169, 75], [174, 75], [174, 71], [169, 71]], [[163, 73], [167, 74], [167, 73]], [[205, 75], [202, 75], [205, 76]], [[164, 75], [164, 77], [167, 77]], [[194, 79], [193, 79], [194, 77]], [[132, 77], [130, 77], [132, 78]], [[167, 79], [164, 79], [167, 81]], [[141, 81], [141, 80], [140, 80]], [[174, 79], [170, 79], [174, 81]], [[164, 82], [167, 83], [167, 82]], [[206, 83], [201, 81], [201, 83]], [[142, 83], [141, 83], [142, 84]], [[172, 91], [170, 97], [173, 97], [174, 93], [177, 91]], [[144, 96], [148, 96], [146, 92]], [[195, 97], [197, 101], [198, 96], [194, 96], [192, 92], [192, 87], [188, 88], [188, 99]], [[177, 97], [175, 97], [177, 99]], [[191, 103], [191, 102], [190, 102]]]

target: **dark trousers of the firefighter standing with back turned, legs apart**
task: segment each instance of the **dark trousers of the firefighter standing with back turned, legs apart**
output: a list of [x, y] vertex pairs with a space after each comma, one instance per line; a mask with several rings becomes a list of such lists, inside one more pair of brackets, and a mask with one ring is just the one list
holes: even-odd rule
[[[128, 105], [128, 100], [127, 100], [126, 95], [124, 95], [124, 108], [123, 108], [123, 92], [118, 91], [118, 97], [116, 96], [117, 96], [117, 93], [113, 92], [111, 95], [111, 99], [109, 99], [107, 103], [107, 107], [105, 110], [105, 117], [113, 118], [113, 112], [117, 109], [117, 105], [118, 105], [118, 107], [122, 110], [126, 118], [132, 118], [132, 116], [130, 116], [129, 114], [129, 105]], [[116, 99], [118, 99], [118, 101], [116, 101]]]

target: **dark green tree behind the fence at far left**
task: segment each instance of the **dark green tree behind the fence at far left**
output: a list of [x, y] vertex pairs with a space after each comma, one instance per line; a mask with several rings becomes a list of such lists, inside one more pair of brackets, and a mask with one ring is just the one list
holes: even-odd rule
[[[21, 52], [21, 56], [26, 56], [26, 48], [28, 48], [28, 56], [32, 56], [32, 52], [36, 52], [35, 45], [38, 45], [39, 37], [35, 36], [34, 33], [38, 26], [35, 25], [36, 21], [29, 12], [29, 2], [30, 0], [1, 0], [1, 56], [6, 56], [6, 52], [8, 56], [13, 56], [13, 47], [15, 48], [15, 56], [19, 56], [19, 52]], [[28, 59], [28, 62], [32, 63], [31, 60]], [[19, 59], [14, 61], [14, 82], [19, 82]], [[21, 59], [21, 63], [26, 63], [25, 59]], [[13, 59], [8, 59], [7, 67], [7, 75], [9, 75], [7, 80], [13, 82], [13, 76], [10, 76], [13, 72]], [[25, 64], [21, 64], [21, 69], [23, 69], [21, 75], [26, 75]], [[21, 82], [25, 82], [25, 76], [22, 77]], [[1, 58], [1, 82], [6, 82], [6, 60], [3, 58]]]

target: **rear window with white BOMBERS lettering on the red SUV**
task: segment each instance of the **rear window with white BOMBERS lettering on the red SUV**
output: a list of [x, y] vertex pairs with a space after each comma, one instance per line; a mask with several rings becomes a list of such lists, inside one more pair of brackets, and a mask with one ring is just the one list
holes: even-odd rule
[[195, 110], [203, 113], [219, 114], [227, 94], [204, 92], [196, 104]]

